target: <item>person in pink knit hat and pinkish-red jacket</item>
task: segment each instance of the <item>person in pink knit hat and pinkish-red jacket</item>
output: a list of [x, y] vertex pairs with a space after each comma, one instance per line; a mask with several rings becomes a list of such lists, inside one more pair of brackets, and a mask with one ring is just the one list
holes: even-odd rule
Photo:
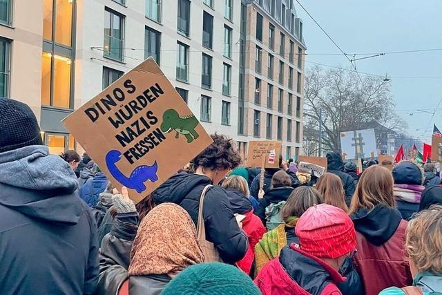
[[255, 279], [262, 294], [342, 294], [338, 284], [346, 279], [338, 270], [356, 252], [356, 232], [347, 213], [329, 204], [315, 205], [302, 214], [295, 231], [299, 246], [282, 248]]

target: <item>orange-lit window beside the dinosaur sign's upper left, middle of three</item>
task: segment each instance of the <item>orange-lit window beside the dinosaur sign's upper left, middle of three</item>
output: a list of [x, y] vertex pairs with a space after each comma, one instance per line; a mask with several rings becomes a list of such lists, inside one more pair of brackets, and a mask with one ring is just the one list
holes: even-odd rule
[[41, 104], [70, 108], [70, 73], [72, 60], [60, 55], [41, 55]]

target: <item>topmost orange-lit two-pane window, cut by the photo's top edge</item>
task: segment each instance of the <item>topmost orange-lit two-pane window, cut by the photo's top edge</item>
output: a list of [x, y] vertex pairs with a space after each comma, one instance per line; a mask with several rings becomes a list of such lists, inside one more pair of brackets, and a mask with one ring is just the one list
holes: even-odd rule
[[[0, 19], [3, 11], [2, 3], [6, 1], [6, 8], [12, 6], [11, 0], [0, 0]], [[9, 3], [9, 4], [8, 4]], [[43, 9], [43, 39], [54, 41], [56, 44], [71, 46], [72, 44], [72, 1], [44, 0]], [[10, 7], [9, 9], [12, 9]], [[8, 10], [4, 10], [8, 14]], [[54, 13], [55, 12], [55, 13]], [[55, 35], [52, 35], [52, 27]]]

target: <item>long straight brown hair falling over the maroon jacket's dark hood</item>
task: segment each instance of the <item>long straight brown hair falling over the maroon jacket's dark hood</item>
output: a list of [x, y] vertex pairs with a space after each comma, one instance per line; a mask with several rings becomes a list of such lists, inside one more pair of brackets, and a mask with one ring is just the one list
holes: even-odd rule
[[377, 204], [396, 207], [393, 195], [393, 175], [383, 166], [369, 166], [359, 179], [349, 213], [358, 209], [372, 210]]

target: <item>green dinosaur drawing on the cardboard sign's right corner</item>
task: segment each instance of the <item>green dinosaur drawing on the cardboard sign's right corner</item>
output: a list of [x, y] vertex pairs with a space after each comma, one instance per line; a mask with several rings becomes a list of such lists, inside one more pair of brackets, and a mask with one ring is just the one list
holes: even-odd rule
[[175, 138], [180, 137], [180, 134], [184, 135], [187, 142], [193, 142], [200, 135], [196, 133], [195, 128], [198, 126], [199, 122], [195, 115], [189, 115], [186, 117], [181, 117], [177, 111], [173, 108], [165, 111], [163, 114], [163, 122], [161, 124], [161, 131], [164, 133], [169, 133], [175, 130]]

